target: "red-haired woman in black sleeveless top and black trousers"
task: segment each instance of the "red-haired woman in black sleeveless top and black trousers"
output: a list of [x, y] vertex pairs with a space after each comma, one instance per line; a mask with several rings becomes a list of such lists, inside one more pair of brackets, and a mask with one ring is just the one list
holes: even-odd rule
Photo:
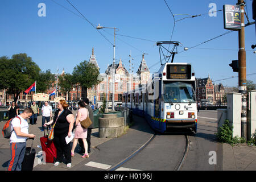
[[53, 143], [57, 150], [57, 158], [54, 166], [58, 166], [63, 161], [64, 154], [67, 159], [67, 167], [71, 167], [71, 142], [67, 144], [65, 137], [71, 137], [75, 118], [72, 112], [68, 110], [68, 104], [66, 101], [60, 100], [58, 108], [59, 109], [55, 111], [53, 120], [45, 123], [44, 126], [51, 125], [56, 122], [54, 127]]

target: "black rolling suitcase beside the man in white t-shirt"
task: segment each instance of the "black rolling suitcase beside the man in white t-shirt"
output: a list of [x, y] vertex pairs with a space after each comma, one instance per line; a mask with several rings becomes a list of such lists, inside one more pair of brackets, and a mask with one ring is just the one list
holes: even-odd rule
[[34, 138], [28, 138], [28, 139], [32, 139], [32, 143], [31, 143], [31, 147], [26, 147], [26, 152], [22, 162], [22, 171], [32, 171], [34, 167], [34, 160], [35, 160], [35, 154], [36, 154], [35, 148], [32, 148]]

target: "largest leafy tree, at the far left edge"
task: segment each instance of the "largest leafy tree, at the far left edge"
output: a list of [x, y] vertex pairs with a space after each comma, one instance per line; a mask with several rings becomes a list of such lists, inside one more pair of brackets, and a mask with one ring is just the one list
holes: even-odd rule
[[26, 53], [0, 57], [0, 89], [13, 94], [14, 102], [20, 92], [30, 87], [38, 78], [40, 68]]

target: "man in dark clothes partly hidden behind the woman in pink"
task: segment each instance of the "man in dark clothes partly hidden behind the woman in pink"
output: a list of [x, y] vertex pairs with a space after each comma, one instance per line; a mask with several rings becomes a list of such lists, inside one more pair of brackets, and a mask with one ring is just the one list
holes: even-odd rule
[[[90, 107], [89, 105], [89, 99], [88, 98], [85, 98], [85, 108], [88, 109], [89, 111], [89, 118], [90, 118], [90, 121], [92, 121], [92, 125], [90, 125], [87, 129], [87, 143], [88, 143], [88, 153], [90, 153], [90, 135], [92, 134], [92, 128], [93, 128], [93, 110], [92, 110], [92, 107]], [[82, 139], [80, 138], [79, 139], [79, 145], [80, 147], [82, 148], [81, 150], [81, 153], [84, 153], [84, 143], [82, 142]]]

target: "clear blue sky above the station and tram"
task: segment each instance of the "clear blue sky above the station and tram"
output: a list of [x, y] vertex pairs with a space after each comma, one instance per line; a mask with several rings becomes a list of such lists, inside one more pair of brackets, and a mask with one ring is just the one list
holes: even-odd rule
[[[55, 0], [65, 8], [79, 15], [65, 0]], [[0, 1], [0, 56], [11, 57], [16, 53], [27, 53], [32, 60], [46, 71], [52, 73], [59, 67], [65, 72], [72, 73], [73, 68], [81, 61], [89, 60], [92, 47], [100, 66], [104, 72], [107, 64], [113, 61], [113, 29], [99, 30], [106, 40], [86, 20], [57, 5], [52, 0], [1, 0]], [[69, 0], [94, 26], [99, 23], [105, 27], [117, 27], [115, 41], [115, 59], [123, 60], [129, 71], [129, 54], [134, 58], [134, 72], [137, 72], [142, 60], [142, 52], [147, 53], [145, 60], [151, 72], [158, 71], [160, 64], [159, 49], [154, 42], [168, 41], [174, 27], [174, 19], [164, 0]], [[217, 10], [222, 10], [223, 5], [235, 5], [237, 1], [171, 1], [166, 0], [173, 14], [198, 15], [195, 18], [185, 18], [176, 22], [173, 41], [182, 43], [184, 47], [193, 47], [203, 43], [228, 30], [224, 29], [223, 11], [218, 11], [217, 16], [207, 13], [216, 4]], [[251, 0], [247, 0], [246, 13], [250, 22], [252, 19]], [[46, 16], [38, 16], [39, 3], [45, 3]], [[186, 16], [175, 15], [175, 20]], [[245, 19], [247, 23], [247, 20]], [[127, 38], [127, 35], [142, 38], [145, 41]], [[253, 53], [251, 44], [256, 43], [255, 25], [245, 28], [246, 48], [246, 73], [256, 73], [256, 53]], [[221, 36], [198, 47], [183, 51], [178, 47], [175, 62], [192, 63], [196, 77], [207, 77], [210, 73], [212, 80], [222, 82], [224, 86], [237, 86], [238, 73], [233, 72], [229, 64], [238, 59], [238, 32]], [[254, 49], [256, 51], [256, 49]], [[256, 74], [247, 76], [248, 80], [256, 83]]]

